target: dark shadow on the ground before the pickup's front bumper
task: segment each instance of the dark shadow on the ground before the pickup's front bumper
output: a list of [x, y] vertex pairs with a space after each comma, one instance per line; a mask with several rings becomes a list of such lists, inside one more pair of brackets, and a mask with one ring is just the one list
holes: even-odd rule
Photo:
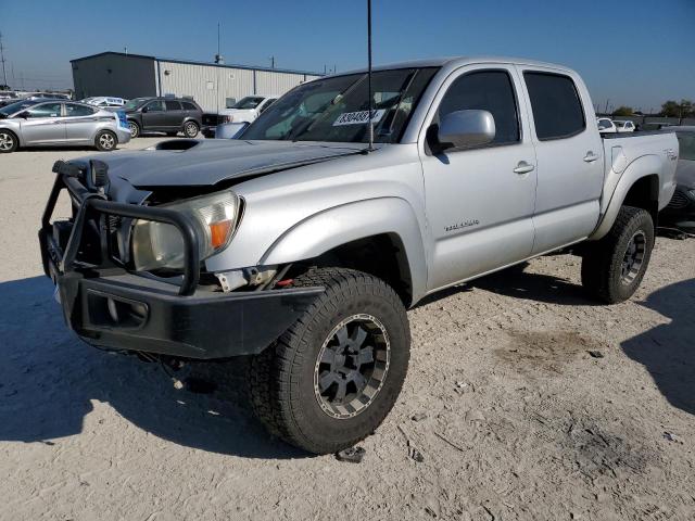
[[[103, 415], [103, 403], [137, 428], [180, 445], [251, 458], [307, 456], [265, 432], [245, 409], [233, 374], [215, 394], [177, 391], [159, 364], [79, 341], [63, 323], [52, 291], [45, 277], [0, 283], [0, 441], [52, 444], [83, 432], [90, 414], [97, 435], [117, 429], [119, 420]], [[225, 364], [215, 372], [237, 369]]]

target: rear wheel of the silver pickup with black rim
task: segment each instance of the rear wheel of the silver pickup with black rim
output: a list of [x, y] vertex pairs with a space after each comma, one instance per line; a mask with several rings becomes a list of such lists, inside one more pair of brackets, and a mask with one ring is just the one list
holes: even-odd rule
[[589, 245], [582, 258], [582, 285], [608, 304], [630, 298], [642, 282], [654, 247], [654, 221], [642, 208], [620, 208], [612, 228]]

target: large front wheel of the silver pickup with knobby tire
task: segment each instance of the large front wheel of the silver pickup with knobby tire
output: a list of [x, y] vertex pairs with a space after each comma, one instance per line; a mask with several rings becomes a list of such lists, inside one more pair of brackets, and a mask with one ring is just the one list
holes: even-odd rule
[[371, 434], [407, 372], [410, 332], [396, 293], [370, 275], [313, 269], [292, 287], [326, 291], [277, 342], [252, 358], [252, 407], [268, 430], [328, 454]]

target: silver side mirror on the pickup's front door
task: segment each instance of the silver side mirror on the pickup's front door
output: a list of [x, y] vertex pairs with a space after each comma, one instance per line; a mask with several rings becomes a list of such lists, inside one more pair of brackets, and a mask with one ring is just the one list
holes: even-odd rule
[[495, 119], [488, 111], [456, 111], [442, 117], [437, 132], [441, 150], [479, 147], [495, 139]]

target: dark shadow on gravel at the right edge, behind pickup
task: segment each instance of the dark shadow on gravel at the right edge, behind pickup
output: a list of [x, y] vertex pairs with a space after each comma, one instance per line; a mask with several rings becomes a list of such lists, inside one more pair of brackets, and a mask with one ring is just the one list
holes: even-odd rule
[[695, 279], [661, 288], [641, 302], [671, 319], [621, 344], [649, 372], [673, 407], [695, 415]]

